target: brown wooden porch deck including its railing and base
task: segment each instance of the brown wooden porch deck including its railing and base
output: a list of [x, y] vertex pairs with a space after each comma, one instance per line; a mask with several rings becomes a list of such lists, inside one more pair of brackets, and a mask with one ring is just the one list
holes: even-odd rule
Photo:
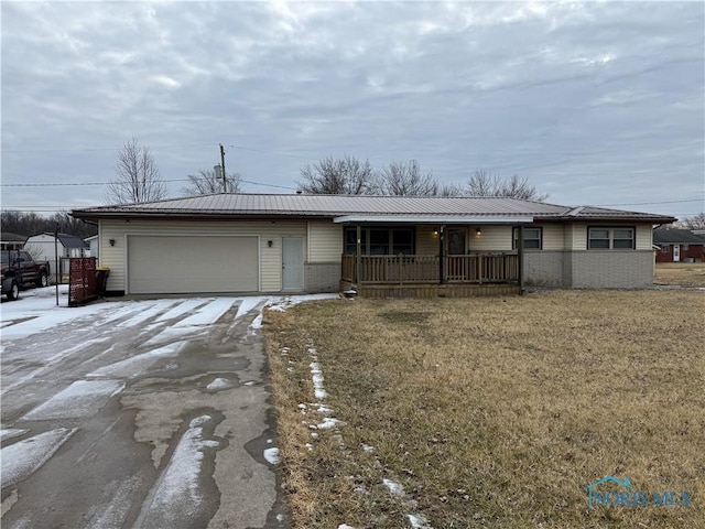
[[359, 258], [344, 255], [340, 285], [364, 298], [463, 298], [520, 293], [519, 278], [516, 252]]

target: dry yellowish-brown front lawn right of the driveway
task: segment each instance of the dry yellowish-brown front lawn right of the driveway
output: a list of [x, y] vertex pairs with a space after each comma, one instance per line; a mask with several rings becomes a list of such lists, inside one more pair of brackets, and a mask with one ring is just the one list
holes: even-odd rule
[[[705, 527], [704, 313], [699, 291], [267, 312], [293, 526]], [[343, 423], [312, 428], [326, 417]], [[692, 504], [588, 509], [607, 475]]]

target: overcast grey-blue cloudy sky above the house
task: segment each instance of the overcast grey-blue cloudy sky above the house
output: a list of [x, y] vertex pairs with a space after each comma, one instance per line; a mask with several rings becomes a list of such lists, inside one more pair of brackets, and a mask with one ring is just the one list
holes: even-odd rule
[[351, 154], [443, 183], [518, 174], [556, 204], [705, 210], [701, 1], [0, 9], [3, 208], [104, 204], [104, 184], [17, 184], [107, 182], [134, 137], [170, 196], [223, 143], [247, 193]]

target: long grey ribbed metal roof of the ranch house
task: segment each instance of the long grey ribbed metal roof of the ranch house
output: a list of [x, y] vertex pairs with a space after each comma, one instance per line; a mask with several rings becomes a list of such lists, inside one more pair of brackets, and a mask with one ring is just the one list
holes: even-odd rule
[[[622, 218], [666, 223], [662, 215], [583, 207], [575, 208], [506, 197], [368, 196], [368, 195], [269, 195], [230, 194], [198, 195], [184, 198], [74, 209], [78, 218], [110, 217], [246, 217], [296, 216], [340, 217], [345, 215], [452, 215], [452, 216], [530, 216], [542, 219]], [[652, 220], [655, 219], [655, 220]], [[391, 219], [389, 219], [391, 220]]]

